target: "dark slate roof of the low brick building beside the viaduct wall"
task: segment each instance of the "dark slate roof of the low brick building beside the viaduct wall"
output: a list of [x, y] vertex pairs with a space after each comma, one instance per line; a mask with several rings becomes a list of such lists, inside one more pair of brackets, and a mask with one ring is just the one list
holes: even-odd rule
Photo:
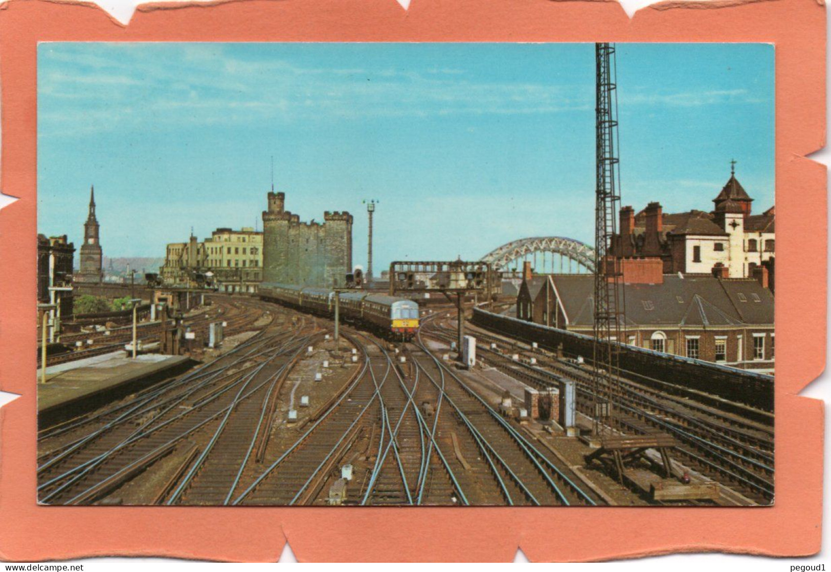
[[[552, 279], [568, 324], [591, 326], [593, 276], [553, 275]], [[623, 291], [627, 325], [717, 328], [774, 323], [774, 296], [754, 279], [665, 275], [663, 284], [627, 284]]]

